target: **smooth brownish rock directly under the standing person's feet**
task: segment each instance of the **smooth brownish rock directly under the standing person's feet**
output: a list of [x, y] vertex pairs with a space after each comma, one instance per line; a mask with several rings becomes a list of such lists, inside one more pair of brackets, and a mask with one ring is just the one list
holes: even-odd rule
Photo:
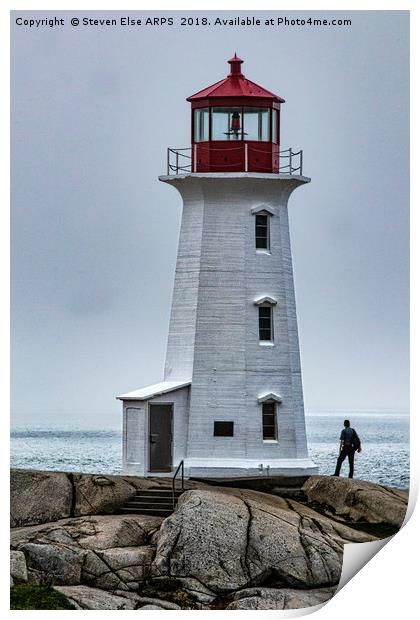
[[408, 493], [400, 489], [334, 476], [311, 476], [303, 485], [309, 502], [327, 506], [351, 521], [400, 527], [407, 512]]

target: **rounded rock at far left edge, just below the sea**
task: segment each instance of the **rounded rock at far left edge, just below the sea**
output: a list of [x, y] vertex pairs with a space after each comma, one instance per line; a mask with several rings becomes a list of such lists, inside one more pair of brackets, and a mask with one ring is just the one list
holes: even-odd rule
[[70, 517], [72, 485], [66, 474], [25, 469], [11, 471], [11, 527]]

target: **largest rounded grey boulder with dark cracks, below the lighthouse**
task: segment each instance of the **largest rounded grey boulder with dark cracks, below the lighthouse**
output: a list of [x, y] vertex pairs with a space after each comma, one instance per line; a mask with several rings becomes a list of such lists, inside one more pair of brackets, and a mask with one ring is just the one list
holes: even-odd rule
[[276, 579], [333, 586], [343, 545], [374, 537], [335, 524], [297, 502], [256, 491], [189, 491], [155, 536], [152, 575], [194, 577], [218, 593]]

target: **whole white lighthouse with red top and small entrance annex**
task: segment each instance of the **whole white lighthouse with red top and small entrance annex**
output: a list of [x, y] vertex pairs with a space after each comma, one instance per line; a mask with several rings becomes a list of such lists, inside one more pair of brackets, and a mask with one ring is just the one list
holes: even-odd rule
[[308, 458], [288, 200], [309, 183], [280, 147], [284, 99], [235, 54], [188, 97], [191, 146], [160, 181], [182, 197], [163, 380], [123, 403], [123, 470], [190, 477], [317, 473]]

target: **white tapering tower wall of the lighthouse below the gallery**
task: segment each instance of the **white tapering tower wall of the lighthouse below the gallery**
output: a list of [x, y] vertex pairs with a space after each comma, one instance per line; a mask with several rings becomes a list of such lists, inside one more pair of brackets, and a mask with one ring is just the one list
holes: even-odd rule
[[[287, 213], [290, 194], [309, 179], [216, 173], [161, 180], [184, 201], [165, 380], [192, 377], [187, 468], [194, 475], [227, 474], [227, 468], [238, 475], [263, 463], [271, 473], [313, 473]], [[260, 205], [273, 212], [271, 254], [255, 250], [252, 209]], [[272, 347], [258, 340], [254, 300], [264, 295], [277, 300]], [[257, 399], [266, 392], [283, 398], [275, 443], [262, 440]], [[213, 437], [215, 420], [233, 421], [234, 437]]]

